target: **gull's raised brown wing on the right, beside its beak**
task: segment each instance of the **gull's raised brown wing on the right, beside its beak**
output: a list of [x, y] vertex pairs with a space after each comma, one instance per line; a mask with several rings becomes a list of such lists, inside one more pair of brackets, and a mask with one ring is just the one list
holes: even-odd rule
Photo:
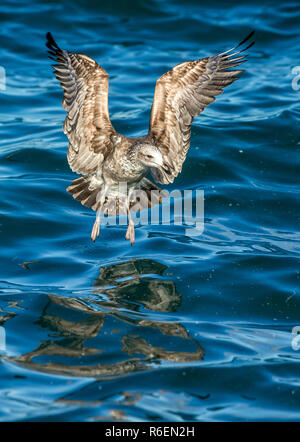
[[206, 106], [215, 101], [223, 88], [238, 79], [243, 70], [230, 70], [245, 62], [237, 50], [249, 40], [251, 32], [234, 48], [212, 57], [187, 61], [175, 66], [156, 82], [148, 136], [163, 153], [168, 174], [152, 170], [160, 183], [172, 183], [181, 172], [190, 146], [191, 124]]

